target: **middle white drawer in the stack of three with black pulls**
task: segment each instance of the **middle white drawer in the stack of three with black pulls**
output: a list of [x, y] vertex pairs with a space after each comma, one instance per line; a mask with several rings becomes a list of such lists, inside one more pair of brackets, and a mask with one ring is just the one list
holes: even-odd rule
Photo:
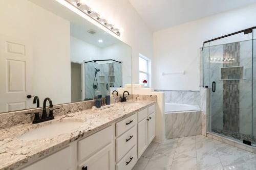
[[137, 143], [137, 125], [116, 139], [116, 161], [118, 162]]

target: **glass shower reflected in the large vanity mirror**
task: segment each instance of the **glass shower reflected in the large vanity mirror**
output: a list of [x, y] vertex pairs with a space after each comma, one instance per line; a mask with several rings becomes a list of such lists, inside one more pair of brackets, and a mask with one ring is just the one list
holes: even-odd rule
[[93, 60], [84, 62], [86, 99], [108, 95], [117, 87], [123, 86], [122, 61]]

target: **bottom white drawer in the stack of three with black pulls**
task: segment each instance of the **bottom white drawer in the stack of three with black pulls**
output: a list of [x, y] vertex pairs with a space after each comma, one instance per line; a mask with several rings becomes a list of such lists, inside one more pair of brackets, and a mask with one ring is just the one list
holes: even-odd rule
[[119, 163], [116, 164], [116, 170], [131, 170], [137, 162], [137, 145], [129, 151]]

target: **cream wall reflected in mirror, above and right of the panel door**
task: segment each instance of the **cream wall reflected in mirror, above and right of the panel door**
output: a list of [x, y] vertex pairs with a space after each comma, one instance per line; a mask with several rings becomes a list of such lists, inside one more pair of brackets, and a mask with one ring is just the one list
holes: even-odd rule
[[40, 106], [46, 97], [53, 104], [71, 102], [69, 22], [26, 0], [0, 1], [0, 11], [0, 34], [33, 47], [32, 95]]

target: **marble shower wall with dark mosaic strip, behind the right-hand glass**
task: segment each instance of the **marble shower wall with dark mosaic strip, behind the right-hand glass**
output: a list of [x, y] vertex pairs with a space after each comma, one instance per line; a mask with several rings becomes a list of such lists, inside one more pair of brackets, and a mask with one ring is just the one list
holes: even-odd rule
[[[204, 84], [211, 87], [210, 81], [216, 81], [216, 92], [211, 92], [211, 129], [233, 135], [251, 135], [252, 124], [252, 41], [241, 41], [204, 48], [205, 60], [230, 56], [234, 62], [205, 63]], [[256, 48], [255, 48], [256, 49]], [[226, 66], [243, 66], [243, 80], [221, 80], [221, 68]], [[254, 69], [256, 70], [256, 69]], [[233, 70], [229, 70], [233, 71]], [[222, 72], [225, 74], [225, 71]], [[238, 74], [235, 72], [234, 74]], [[241, 77], [243, 75], [234, 75]], [[227, 75], [223, 76], [224, 78]], [[253, 83], [256, 90], [256, 84]], [[256, 109], [256, 108], [255, 108]], [[254, 121], [253, 121], [254, 122]], [[254, 122], [255, 124], [255, 122]], [[254, 126], [256, 127], [256, 126]], [[254, 132], [255, 133], [255, 132]], [[254, 134], [255, 135], [255, 134]]]

